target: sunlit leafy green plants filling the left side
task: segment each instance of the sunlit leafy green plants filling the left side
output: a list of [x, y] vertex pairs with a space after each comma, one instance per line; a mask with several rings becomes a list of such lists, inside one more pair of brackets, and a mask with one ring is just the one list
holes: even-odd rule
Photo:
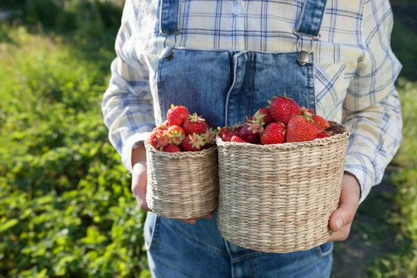
[[139, 277], [145, 214], [100, 111], [113, 51], [8, 35], [20, 47], [0, 44], [0, 277]]

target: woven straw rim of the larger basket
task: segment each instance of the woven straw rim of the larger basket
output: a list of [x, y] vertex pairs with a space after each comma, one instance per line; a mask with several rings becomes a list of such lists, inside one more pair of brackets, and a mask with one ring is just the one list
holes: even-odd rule
[[341, 129], [343, 130], [341, 133], [336, 133], [333, 136], [327, 138], [317, 138], [312, 141], [304, 141], [304, 142], [284, 142], [281, 144], [273, 144], [273, 145], [256, 145], [251, 143], [238, 143], [238, 142], [227, 142], [223, 141], [222, 138], [219, 136], [216, 137], [215, 143], [220, 147], [240, 147], [241, 149], [269, 149], [269, 150], [277, 150], [277, 149], [297, 149], [300, 147], [322, 147], [327, 145], [332, 145], [335, 142], [340, 142], [343, 140], [347, 140], [350, 136], [350, 131], [348, 131], [343, 124], [338, 124], [337, 122], [329, 121], [331, 125], [330, 129]]

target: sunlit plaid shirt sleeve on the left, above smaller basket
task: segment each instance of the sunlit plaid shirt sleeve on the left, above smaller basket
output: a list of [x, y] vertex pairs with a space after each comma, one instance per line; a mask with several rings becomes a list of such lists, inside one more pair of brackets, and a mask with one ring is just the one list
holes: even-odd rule
[[122, 26], [117, 34], [117, 58], [111, 64], [111, 79], [101, 103], [108, 138], [131, 171], [131, 150], [154, 128], [154, 109], [149, 88], [149, 68], [134, 51], [136, 26], [133, 1], [126, 1]]

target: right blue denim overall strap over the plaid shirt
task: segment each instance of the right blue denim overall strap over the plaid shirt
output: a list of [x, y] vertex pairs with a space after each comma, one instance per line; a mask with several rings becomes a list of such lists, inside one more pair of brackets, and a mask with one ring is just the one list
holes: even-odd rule
[[323, 14], [325, 13], [327, 0], [306, 0], [300, 24], [297, 31], [304, 35], [317, 37], [320, 32]]

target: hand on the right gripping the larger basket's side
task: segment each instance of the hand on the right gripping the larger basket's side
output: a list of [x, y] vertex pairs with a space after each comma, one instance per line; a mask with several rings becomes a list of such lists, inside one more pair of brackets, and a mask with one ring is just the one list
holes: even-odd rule
[[332, 213], [329, 220], [330, 228], [333, 230], [329, 241], [343, 241], [349, 236], [350, 227], [354, 214], [359, 207], [361, 188], [356, 177], [350, 172], [343, 174], [342, 191], [339, 207]]

